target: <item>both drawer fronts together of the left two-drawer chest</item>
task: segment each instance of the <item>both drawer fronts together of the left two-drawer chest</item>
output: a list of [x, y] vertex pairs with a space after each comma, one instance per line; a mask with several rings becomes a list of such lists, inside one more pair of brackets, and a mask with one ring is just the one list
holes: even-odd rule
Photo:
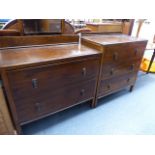
[[98, 73], [96, 56], [8, 72], [19, 123], [93, 99]]

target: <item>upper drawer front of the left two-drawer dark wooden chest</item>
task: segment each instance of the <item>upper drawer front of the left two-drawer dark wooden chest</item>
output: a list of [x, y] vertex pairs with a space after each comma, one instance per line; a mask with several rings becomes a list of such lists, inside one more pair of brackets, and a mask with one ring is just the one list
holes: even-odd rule
[[70, 84], [96, 79], [99, 58], [88, 59], [49, 67], [11, 71], [8, 73], [15, 99], [42, 95]]

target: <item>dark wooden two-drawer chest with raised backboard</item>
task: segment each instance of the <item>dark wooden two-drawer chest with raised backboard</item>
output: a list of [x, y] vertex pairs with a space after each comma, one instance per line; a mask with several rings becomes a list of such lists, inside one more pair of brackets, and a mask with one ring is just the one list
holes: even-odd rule
[[[37, 46], [33, 37], [39, 38]], [[23, 124], [93, 101], [100, 69], [100, 51], [69, 43], [77, 36], [67, 36], [65, 44], [55, 45], [51, 44], [53, 36], [47, 37], [48, 45], [43, 45], [45, 36], [33, 37], [32, 42], [29, 37], [21, 37], [18, 47], [18, 37], [5, 37], [2, 44], [12, 39], [13, 47], [0, 51], [1, 78], [18, 133]], [[65, 41], [64, 36], [58, 36], [57, 42], [61, 39]]]

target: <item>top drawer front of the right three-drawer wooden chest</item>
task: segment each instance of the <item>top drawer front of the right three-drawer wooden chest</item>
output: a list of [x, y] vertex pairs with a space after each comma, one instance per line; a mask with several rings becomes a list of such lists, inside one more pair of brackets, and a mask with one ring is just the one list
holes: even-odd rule
[[103, 63], [125, 62], [131, 59], [141, 60], [146, 43], [124, 43], [106, 46]]

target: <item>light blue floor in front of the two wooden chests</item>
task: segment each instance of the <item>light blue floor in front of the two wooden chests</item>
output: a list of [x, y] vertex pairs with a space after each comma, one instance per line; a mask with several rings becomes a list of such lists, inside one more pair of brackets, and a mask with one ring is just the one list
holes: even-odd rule
[[155, 134], [155, 74], [139, 72], [132, 93], [123, 90], [23, 126], [32, 135]]

